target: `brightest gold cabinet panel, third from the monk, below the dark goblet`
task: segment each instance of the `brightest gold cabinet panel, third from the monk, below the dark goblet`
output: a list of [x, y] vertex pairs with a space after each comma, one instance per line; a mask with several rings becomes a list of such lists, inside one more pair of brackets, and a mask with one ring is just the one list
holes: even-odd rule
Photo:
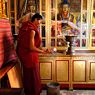
[[73, 81], [85, 82], [86, 81], [86, 61], [74, 60], [73, 61]]

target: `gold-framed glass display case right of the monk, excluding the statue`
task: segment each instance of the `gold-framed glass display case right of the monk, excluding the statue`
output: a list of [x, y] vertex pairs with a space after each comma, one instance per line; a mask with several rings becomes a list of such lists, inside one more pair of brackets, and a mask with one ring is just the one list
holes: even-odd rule
[[[76, 33], [67, 22], [58, 19], [62, 13], [60, 3], [64, 0], [40, 0], [40, 13], [44, 17], [41, 25], [42, 46], [66, 49], [64, 35]], [[93, 50], [95, 48], [95, 0], [68, 0], [70, 4], [71, 25], [79, 29], [76, 39], [76, 50]], [[92, 6], [92, 7], [90, 7]], [[65, 27], [65, 28], [64, 28]], [[75, 35], [75, 34], [74, 34]]]

